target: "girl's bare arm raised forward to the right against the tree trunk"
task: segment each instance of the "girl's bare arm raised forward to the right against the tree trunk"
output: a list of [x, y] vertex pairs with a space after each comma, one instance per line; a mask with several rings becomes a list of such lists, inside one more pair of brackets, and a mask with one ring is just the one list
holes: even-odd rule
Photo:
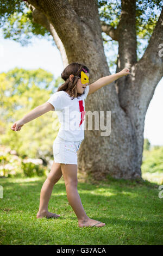
[[126, 76], [129, 75], [130, 70], [128, 68], [124, 68], [122, 69], [120, 72], [110, 75], [110, 76], [104, 76], [102, 78], [99, 78], [96, 82], [90, 84], [90, 88], [89, 88], [89, 94], [91, 93], [95, 93], [96, 90], [102, 88], [103, 86], [106, 86], [109, 83], [114, 82], [115, 80], [117, 80], [118, 78], [122, 77], [122, 76]]

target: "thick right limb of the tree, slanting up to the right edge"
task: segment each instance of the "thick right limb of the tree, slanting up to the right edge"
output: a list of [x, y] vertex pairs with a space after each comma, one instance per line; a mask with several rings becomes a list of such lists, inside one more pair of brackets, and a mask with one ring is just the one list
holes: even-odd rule
[[[131, 68], [131, 73], [133, 73], [133, 76], [131, 76], [131, 84], [133, 84], [133, 86], [130, 88], [127, 86], [123, 95], [121, 95], [123, 102], [125, 99], [130, 98], [131, 105], [127, 106], [128, 112], [129, 109], [136, 104], [136, 106], [143, 109], [146, 113], [154, 90], [163, 76], [163, 58], [160, 51], [162, 47], [159, 47], [163, 41], [162, 31], [163, 7], [145, 53], [139, 62]], [[135, 95], [139, 95], [136, 103], [134, 103]]]

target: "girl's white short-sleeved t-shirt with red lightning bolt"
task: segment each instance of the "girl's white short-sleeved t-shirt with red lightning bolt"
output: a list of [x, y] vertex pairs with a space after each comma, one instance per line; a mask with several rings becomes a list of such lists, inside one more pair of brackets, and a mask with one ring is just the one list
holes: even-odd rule
[[[84, 93], [78, 98], [71, 97], [61, 90], [54, 93], [47, 102], [55, 108], [61, 127], [58, 136], [66, 141], [82, 141], [84, 139], [85, 99], [89, 93], [86, 86]], [[73, 100], [72, 100], [73, 99]]]

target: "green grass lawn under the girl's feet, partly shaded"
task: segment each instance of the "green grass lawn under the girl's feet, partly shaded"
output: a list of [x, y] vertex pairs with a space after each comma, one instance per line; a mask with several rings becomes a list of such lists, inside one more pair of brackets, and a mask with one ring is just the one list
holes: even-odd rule
[[60, 218], [36, 218], [44, 180], [0, 179], [1, 245], [163, 244], [163, 198], [158, 197], [158, 185], [112, 178], [96, 184], [79, 182], [78, 192], [86, 214], [106, 224], [102, 228], [79, 228], [62, 178], [54, 186], [48, 209], [60, 214]]

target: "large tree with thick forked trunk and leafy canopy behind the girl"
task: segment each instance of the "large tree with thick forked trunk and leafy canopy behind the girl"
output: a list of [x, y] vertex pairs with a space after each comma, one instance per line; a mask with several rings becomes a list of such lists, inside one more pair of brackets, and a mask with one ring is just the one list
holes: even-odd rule
[[[101, 131], [86, 131], [79, 150], [78, 168], [95, 179], [102, 179], [107, 174], [115, 178], [141, 178], [145, 115], [163, 75], [162, 1], [9, 2], [3, 4], [1, 1], [1, 24], [5, 27], [6, 38], [22, 40], [21, 36], [28, 39], [32, 33], [42, 36], [50, 33], [64, 66], [71, 62], [84, 63], [90, 68], [90, 83], [110, 75], [103, 45], [107, 40], [103, 33], [118, 44], [116, 72], [127, 66], [131, 75], [87, 97], [86, 111], [111, 111], [111, 135], [102, 137]], [[159, 15], [155, 14], [156, 8]], [[147, 9], [150, 10], [148, 14]], [[7, 24], [18, 14], [22, 18], [15, 19], [15, 27], [19, 30], [14, 38], [15, 33], [11, 33], [14, 23]], [[147, 39], [148, 44], [139, 59], [138, 39], [142, 38]]]

